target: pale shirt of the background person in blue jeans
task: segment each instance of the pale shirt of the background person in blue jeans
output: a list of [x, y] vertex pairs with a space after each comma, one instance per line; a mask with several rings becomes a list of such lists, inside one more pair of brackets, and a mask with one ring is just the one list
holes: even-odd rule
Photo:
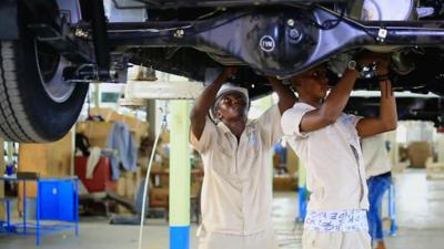
[[365, 162], [365, 175], [367, 179], [391, 170], [389, 153], [385, 148], [384, 135], [365, 137], [362, 139], [362, 154]]

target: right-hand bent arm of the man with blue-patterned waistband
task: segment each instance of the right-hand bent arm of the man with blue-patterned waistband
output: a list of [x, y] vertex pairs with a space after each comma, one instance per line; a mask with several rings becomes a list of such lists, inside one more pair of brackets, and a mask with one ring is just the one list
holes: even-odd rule
[[396, 101], [392, 91], [392, 83], [389, 79], [380, 81], [381, 101], [380, 116], [365, 117], [356, 124], [360, 137], [367, 137], [375, 134], [393, 131], [397, 125]]

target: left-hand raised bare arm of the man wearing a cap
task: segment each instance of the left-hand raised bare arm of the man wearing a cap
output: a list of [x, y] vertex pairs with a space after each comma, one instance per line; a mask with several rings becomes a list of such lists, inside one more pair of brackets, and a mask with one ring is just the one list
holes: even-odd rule
[[191, 132], [195, 138], [200, 139], [203, 128], [205, 127], [205, 118], [211, 106], [213, 106], [218, 91], [226, 79], [234, 73], [234, 69], [226, 69], [210, 85], [208, 85], [201, 95], [195, 98], [193, 108], [191, 110]]

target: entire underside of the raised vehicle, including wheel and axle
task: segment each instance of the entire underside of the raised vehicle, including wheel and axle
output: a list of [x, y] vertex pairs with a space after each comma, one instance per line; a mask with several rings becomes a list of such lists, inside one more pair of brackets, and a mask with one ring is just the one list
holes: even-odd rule
[[[326, 62], [334, 84], [356, 53], [371, 50], [391, 53], [396, 91], [442, 96], [443, 2], [387, 2], [4, 1], [0, 14], [9, 21], [0, 32], [2, 52], [14, 53], [11, 63], [28, 63], [33, 72], [21, 82], [24, 71], [2, 64], [3, 75], [17, 80], [11, 86], [2, 77], [1, 100], [11, 103], [2, 106], [0, 135], [22, 142], [61, 137], [75, 122], [89, 82], [124, 83], [130, 64], [201, 82], [214, 69], [234, 66], [232, 81], [259, 97], [271, 91], [265, 75], [285, 80]], [[31, 87], [30, 81], [36, 81]], [[363, 76], [355, 89], [377, 90], [377, 84]], [[17, 95], [19, 102], [12, 103]], [[362, 103], [349, 105], [356, 114], [374, 105], [365, 98], [354, 102]], [[443, 116], [440, 97], [401, 101], [398, 106], [411, 114], [401, 115], [405, 118], [440, 124]]]

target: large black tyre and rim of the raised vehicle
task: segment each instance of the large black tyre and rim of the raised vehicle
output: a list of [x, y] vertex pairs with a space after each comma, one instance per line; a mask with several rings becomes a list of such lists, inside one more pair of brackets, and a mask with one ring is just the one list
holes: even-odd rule
[[0, 41], [0, 136], [40, 143], [64, 136], [83, 106], [88, 84], [65, 83], [68, 61], [32, 35], [19, 4], [20, 40]]

